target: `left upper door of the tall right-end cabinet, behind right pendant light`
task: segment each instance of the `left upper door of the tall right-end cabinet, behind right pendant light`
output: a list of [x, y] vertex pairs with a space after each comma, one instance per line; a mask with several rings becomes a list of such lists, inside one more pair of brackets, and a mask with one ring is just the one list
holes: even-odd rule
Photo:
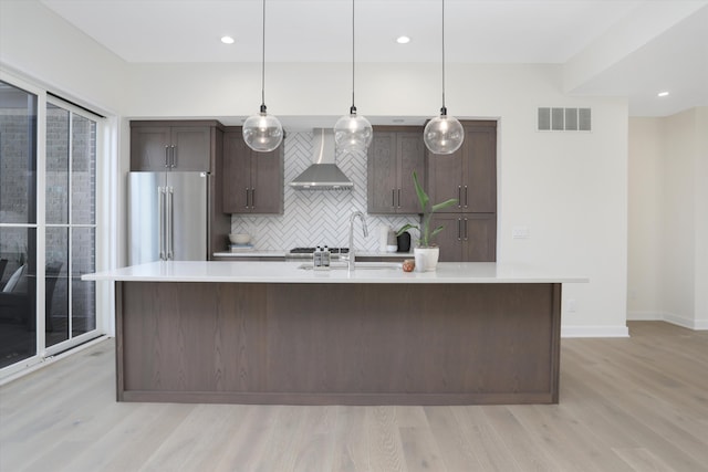
[[450, 198], [458, 200], [458, 204], [440, 210], [445, 213], [460, 212], [462, 209], [462, 169], [465, 146], [450, 155], [427, 153], [428, 195], [433, 203], [439, 203]]

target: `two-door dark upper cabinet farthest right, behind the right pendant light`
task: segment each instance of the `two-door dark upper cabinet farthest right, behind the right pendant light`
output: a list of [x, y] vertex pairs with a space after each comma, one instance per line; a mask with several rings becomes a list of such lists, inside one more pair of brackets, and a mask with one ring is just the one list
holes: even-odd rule
[[461, 122], [465, 141], [455, 154], [428, 154], [428, 195], [435, 203], [458, 199], [442, 212], [497, 211], [497, 122]]

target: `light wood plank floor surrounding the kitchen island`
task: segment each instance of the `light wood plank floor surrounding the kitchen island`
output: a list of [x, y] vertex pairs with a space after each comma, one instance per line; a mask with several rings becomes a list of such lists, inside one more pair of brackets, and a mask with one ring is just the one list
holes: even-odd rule
[[707, 471], [708, 332], [629, 332], [500, 407], [117, 403], [108, 340], [0, 389], [0, 471]]

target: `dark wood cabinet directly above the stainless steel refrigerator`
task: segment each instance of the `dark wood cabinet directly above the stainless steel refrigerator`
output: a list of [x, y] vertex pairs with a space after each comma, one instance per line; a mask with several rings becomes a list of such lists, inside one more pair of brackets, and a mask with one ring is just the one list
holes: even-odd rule
[[221, 128], [216, 120], [131, 122], [131, 170], [214, 171]]

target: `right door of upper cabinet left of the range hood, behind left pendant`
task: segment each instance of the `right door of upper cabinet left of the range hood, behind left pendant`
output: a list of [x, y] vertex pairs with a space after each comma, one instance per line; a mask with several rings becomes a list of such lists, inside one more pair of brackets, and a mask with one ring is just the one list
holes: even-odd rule
[[[250, 149], [249, 149], [250, 150]], [[251, 154], [251, 212], [283, 212], [283, 145], [271, 153]]]

